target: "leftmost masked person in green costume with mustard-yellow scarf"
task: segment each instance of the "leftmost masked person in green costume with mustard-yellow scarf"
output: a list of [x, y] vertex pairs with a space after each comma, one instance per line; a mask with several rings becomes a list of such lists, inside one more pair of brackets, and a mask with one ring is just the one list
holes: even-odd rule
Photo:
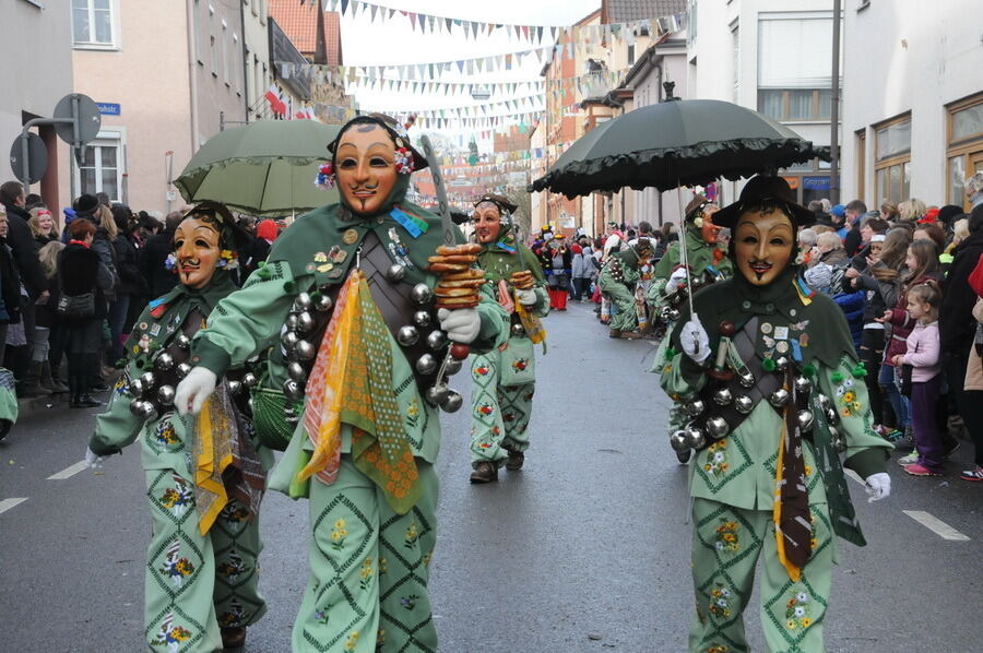
[[253, 439], [242, 370], [201, 416], [181, 417], [175, 387], [191, 369], [191, 339], [236, 289], [236, 229], [225, 206], [191, 210], [167, 264], [178, 285], [151, 301], [126, 344], [126, 368], [96, 418], [86, 461], [98, 466], [140, 440], [153, 534], [144, 569], [144, 637], [175, 653], [240, 646], [267, 610], [259, 594], [259, 507], [270, 450]]

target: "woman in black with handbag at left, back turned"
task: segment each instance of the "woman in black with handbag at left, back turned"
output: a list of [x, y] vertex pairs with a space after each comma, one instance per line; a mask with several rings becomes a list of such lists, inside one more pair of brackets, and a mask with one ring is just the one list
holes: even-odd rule
[[69, 225], [71, 240], [58, 257], [61, 298], [56, 312], [68, 330], [69, 391], [71, 407], [90, 408], [103, 402], [92, 396], [91, 383], [99, 376], [103, 348], [105, 292], [112, 287], [112, 273], [94, 252], [96, 228], [87, 219]]

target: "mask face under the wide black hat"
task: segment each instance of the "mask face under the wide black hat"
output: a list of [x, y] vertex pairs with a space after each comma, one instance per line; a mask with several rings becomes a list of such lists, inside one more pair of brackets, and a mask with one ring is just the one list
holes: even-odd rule
[[749, 283], [767, 286], [787, 268], [794, 242], [787, 215], [778, 210], [748, 211], [734, 229], [737, 270]]

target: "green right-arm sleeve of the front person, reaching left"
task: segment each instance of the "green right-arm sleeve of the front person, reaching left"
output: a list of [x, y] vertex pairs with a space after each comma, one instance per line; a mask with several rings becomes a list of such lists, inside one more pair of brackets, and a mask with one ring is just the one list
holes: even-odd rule
[[260, 269], [215, 306], [208, 328], [194, 335], [192, 363], [220, 377], [229, 367], [241, 366], [280, 333], [296, 295], [297, 283], [287, 262]]

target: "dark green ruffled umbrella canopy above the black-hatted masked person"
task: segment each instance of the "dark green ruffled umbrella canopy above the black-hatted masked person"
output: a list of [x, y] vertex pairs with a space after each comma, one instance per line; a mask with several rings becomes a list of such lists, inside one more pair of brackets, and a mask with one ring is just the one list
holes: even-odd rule
[[715, 99], [641, 107], [573, 143], [531, 190], [568, 198], [596, 190], [635, 190], [739, 179], [807, 162], [820, 152], [757, 111]]

